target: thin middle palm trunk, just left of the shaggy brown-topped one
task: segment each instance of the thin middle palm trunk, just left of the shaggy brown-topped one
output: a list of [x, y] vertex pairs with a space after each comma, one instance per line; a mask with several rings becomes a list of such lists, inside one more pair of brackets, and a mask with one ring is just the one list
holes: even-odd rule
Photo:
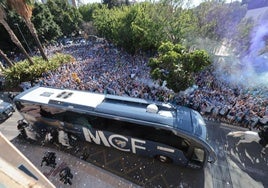
[[33, 63], [32, 59], [31, 59], [31, 57], [29, 56], [29, 54], [27, 53], [27, 51], [24, 49], [24, 47], [20, 43], [20, 41], [17, 38], [17, 36], [14, 34], [14, 32], [12, 31], [12, 29], [9, 27], [8, 23], [6, 22], [6, 12], [5, 12], [4, 8], [1, 5], [0, 5], [0, 23], [4, 26], [4, 28], [6, 29], [6, 31], [10, 35], [10, 38], [11, 38], [12, 42], [14, 42], [16, 44], [16, 46], [26, 56], [26, 58], [28, 59], [29, 63], [31, 65], [33, 65], [34, 63]]

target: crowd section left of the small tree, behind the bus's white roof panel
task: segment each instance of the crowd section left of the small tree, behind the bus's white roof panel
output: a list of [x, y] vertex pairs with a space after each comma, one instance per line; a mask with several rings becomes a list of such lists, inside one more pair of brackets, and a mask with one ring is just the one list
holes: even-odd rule
[[44, 74], [41, 84], [160, 101], [169, 101], [174, 94], [150, 79], [144, 55], [132, 56], [97, 42], [67, 46], [61, 52], [73, 55], [76, 61]]

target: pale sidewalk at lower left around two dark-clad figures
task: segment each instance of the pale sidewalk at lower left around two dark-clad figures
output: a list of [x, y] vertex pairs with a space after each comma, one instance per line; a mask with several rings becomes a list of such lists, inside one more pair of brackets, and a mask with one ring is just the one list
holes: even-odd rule
[[[63, 153], [52, 148], [40, 147], [39, 145], [28, 144], [19, 139], [14, 139], [13, 144], [34, 164], [36, 167], [57, 187], [64, 188], [70, 185], [63, 184], [59, 180], [59, 172], [62, 168], [68, 166], [73, 174], [73, 187], [94, 187], [94, 188], [131, 188], [138, 187], [133, 183], [120, 178], [108, 171], [98, 168], [90, 163], [80, 160], [77, 157]], [[51, 151], [56, 153], [55, 169], [48, 166], [41, 167], [44, 152]]]

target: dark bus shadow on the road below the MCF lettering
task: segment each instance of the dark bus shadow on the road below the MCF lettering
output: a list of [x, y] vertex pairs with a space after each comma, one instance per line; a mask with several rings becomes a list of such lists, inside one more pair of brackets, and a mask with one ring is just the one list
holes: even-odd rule
[[[44, 146], [40, 142], [19, 137], [13, 140], [13, 143], [16, 142]], [[55, 144], [45, 146], [76, 156], [142, 187], [204, 187], [204, 170], [164, 164], [155, 159], [91, 143], [80, 142], [70, 149]]]

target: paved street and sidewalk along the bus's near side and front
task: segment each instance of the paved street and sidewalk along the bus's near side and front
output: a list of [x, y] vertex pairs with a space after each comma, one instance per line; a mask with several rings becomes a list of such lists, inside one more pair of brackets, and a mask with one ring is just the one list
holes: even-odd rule
[[[186, 188], [268, 187], [268, 151], [266, 150], [267, 155], [262, 157], [260, 155], [261, 146], [257, 143], [241, 144], [235, 148], [237, 140], [226, 135], [230, 131], [241, 130], [242, 128], [239, 127], [207, 121], [209, 141], [217, 153], [218, 160], [215, 164], [208, 164], [203, 170], [193, 170], [172, 164], [163, 164], [154, 159], [90, 143], [79, 144], [80, 147], [71, 149], [55, 145], [41, 146], [38, 143], [21, 140], [17, 137], [16, 122], [18, 118], [20, 115], [15, 113], [7, 121], [0, 124], [1, 132], [43, 173], [48, 171], [48, 169], [40, 167], [43, 152], [46, 150], [55, 151], [67, 164], [76, 167], [75, 173], [77, 177], [81, 178], [74, 179], [74, 187], [77, 187], [75, 185]], [[85, 150], [86, 157], [84, 156]], [[36, 152], [39, 158], [34, 157], [33, 152]], [[84, 160], [80, 159], [81, 156], [84, 156]], [[81, 168], [75, 161], [81, 162]], [[85, 171], [85, 165], [91, 166], [94, 170]], [[101, 175], [95, 175], [96, 181], [90, 182], [86, 178], [87, 175], [93, 176], [98, 172]], [[84, 176], [85, 178], [82, 178]], [[55, 176], [51, 176], [49, 179], [54, 184], [59, 184], [59, 180]]]

